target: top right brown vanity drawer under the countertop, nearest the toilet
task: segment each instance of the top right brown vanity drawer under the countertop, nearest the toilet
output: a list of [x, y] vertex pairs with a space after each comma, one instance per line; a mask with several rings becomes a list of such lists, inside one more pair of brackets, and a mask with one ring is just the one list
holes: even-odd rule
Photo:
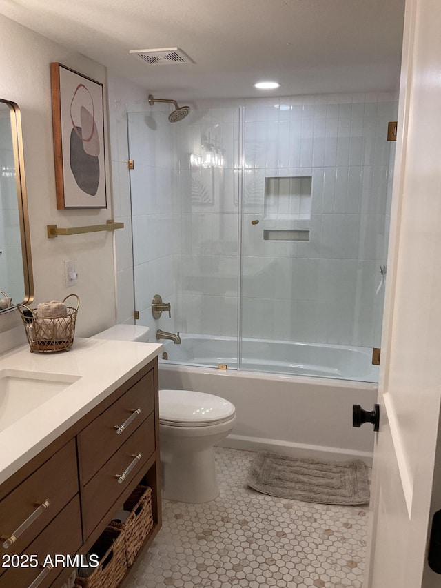
[[[134, 414], [140, 409], [139, 414]], [[141, 380], [85, 427], [78, 436], [81, 481], [85, 485], [99, 468], [123, 445], [154, 409], [154, 375], [150, 370]], [[132, 420], [123, 431], [120, 427]]]

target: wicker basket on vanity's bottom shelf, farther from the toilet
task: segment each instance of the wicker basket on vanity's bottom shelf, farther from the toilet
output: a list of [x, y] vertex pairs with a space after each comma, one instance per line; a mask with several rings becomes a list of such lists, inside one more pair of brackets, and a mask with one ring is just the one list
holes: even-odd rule
[[116, 588], [127, 571], [125, 560], [124, 533], [114, 527], [105, 531], [90, 549], [91, 553], [102, 554], [99, 566], [87, 578], [76, 576], [75, 585], [81, 588]]

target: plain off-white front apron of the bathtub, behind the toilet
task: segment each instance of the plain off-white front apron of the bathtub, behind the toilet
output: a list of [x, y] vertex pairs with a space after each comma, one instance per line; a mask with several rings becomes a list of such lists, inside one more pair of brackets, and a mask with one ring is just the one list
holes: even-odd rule
[[[169, 357], [181, 353], [180, 361], [185, 361], [185, 338], [181, 345], [167, 342]], [[204, 348], [209, 345], [208, 339], [203, 338]], [[213, 358], [210, 361], [214, 363]], [[217, 362], [228, 363], [223, 354], [216, 358]], [[161, 361], [159, 386], [216, 394], [234, 403], [237, 422], [222, 443], [224, 447], [267, 449], [315, 458], [361, 458], [371, 464], [373, 428], [369, 423], [360, 429], [352, 427], [352, 405], [371, 410], [376, 402], [375, 383], [224, 371]]]

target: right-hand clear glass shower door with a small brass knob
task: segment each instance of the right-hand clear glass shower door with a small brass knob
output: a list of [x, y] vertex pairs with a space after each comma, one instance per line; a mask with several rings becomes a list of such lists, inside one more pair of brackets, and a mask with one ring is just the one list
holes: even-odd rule
[[395, 114], [375, 93], [245, 109], [242, 369], [378, 381]]

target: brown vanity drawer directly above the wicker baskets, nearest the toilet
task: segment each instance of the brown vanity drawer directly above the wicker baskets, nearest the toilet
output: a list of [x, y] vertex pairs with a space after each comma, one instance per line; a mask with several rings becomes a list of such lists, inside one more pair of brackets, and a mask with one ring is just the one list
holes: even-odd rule
[[[103, 465], [85, 485], [82, 496], [83, 530], [85, 540], [107, 514], [120, 494], [139, 475], [143, 465], [155, 449], [154, 414], [151, 414], [127, 439], [124, 445]], [[139, 460], [134, 456], [141, 454]], [[127, 477], [119, 483], [118, 477], [134, 463]], [[110, 522], [110, 521], [109, 521]]]

